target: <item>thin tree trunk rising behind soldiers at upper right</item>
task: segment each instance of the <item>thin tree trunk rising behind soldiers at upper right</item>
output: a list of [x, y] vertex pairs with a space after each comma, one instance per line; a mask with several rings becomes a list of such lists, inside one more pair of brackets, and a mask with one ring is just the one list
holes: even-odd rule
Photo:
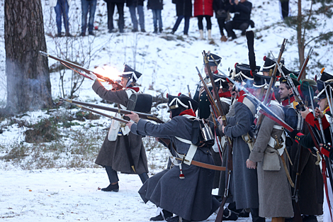
[[[303, 15], [302, 15], [302, 0], [298, 0], [298, 15], [297, 15], [297, 42], [298, 42], [298, 60], [300, 61], [300, 69], [302, 68], [302, 65], [304, 63], [304, 50], [305, 50], [305, 40], [302, 35], [302, 21], [303, 21]], [[305, 78], [305, 72], [301, 79]]]

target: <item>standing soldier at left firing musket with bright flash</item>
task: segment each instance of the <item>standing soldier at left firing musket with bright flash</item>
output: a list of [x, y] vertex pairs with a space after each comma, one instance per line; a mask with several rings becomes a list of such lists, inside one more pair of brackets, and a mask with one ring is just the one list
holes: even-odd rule
[[[119, 104], [121, 109], [126, 109], [130, 95], [139, 91], [134, 84], [141, 75], [140, 72], [125, 65], [124, 72], [120, 75], [120, 84], [123, 89], [117, 89], [117, 85], [114, 84], [112, 90], [107, 90], [98, 81], [96, 75], [90, 74], [91, 78], [95, 80], [93, 89], [96, 94], [102, 99]], [[117, 171], [139, 174], [142, 184], [148, 179], [147, 156], [142, 144], [142, 136], [131, 133], [127, 126], [120, 126], [118, 121], [112, 121], [110, 131], [104, 139], [95, 163], [105, 167], [108, 174], [110, 184], [101, 189], [104, 192], [118, 192]]]

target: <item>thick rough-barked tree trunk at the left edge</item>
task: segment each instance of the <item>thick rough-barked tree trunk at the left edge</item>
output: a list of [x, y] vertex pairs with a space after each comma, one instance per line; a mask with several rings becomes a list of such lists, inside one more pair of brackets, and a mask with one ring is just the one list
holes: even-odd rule
[[52, 106], [40, 0], [5, 0], [7, 106], [21, 113]]

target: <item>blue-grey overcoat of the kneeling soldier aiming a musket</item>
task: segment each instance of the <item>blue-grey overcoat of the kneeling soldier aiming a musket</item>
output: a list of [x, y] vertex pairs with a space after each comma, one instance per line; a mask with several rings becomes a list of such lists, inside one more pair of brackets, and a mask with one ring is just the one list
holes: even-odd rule
[[[191, 140], [192, 121], [185, 116], [175, 116], [162, 124], [140, 119], [130, 130], [138, 135], [167, 138], [174, 144], [177, 152], [186, 154], [190, 145], [175, 136]], [[198, 148], [193, 160], [213, 165], [209, 148]], [[139, 193], [145, 203], [151, 201], [188, 221], [203, 221], [220, 206], [220, 202], [212, 196], [214, 171], [194, 165], [181, 166], [184, 179], [179, 178], [179, 166], [174, 166], [149, 177]]]

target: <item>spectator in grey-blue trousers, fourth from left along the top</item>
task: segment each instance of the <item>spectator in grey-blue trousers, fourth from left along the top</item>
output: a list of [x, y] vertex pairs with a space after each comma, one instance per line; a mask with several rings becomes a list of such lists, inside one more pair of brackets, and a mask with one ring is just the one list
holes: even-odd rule
[[[139, 14], [139, 23], [142, 33], [145, 33], [145, 13], [143, 12], [143, 1], [145, 0], [127, 0], [126, 6], [130, 9], [130, 18], [132, 19], [133, 29], [135, 33], [137, 29], [137, 13]], [[136, 10], [137, 9], [137, 13]]]

